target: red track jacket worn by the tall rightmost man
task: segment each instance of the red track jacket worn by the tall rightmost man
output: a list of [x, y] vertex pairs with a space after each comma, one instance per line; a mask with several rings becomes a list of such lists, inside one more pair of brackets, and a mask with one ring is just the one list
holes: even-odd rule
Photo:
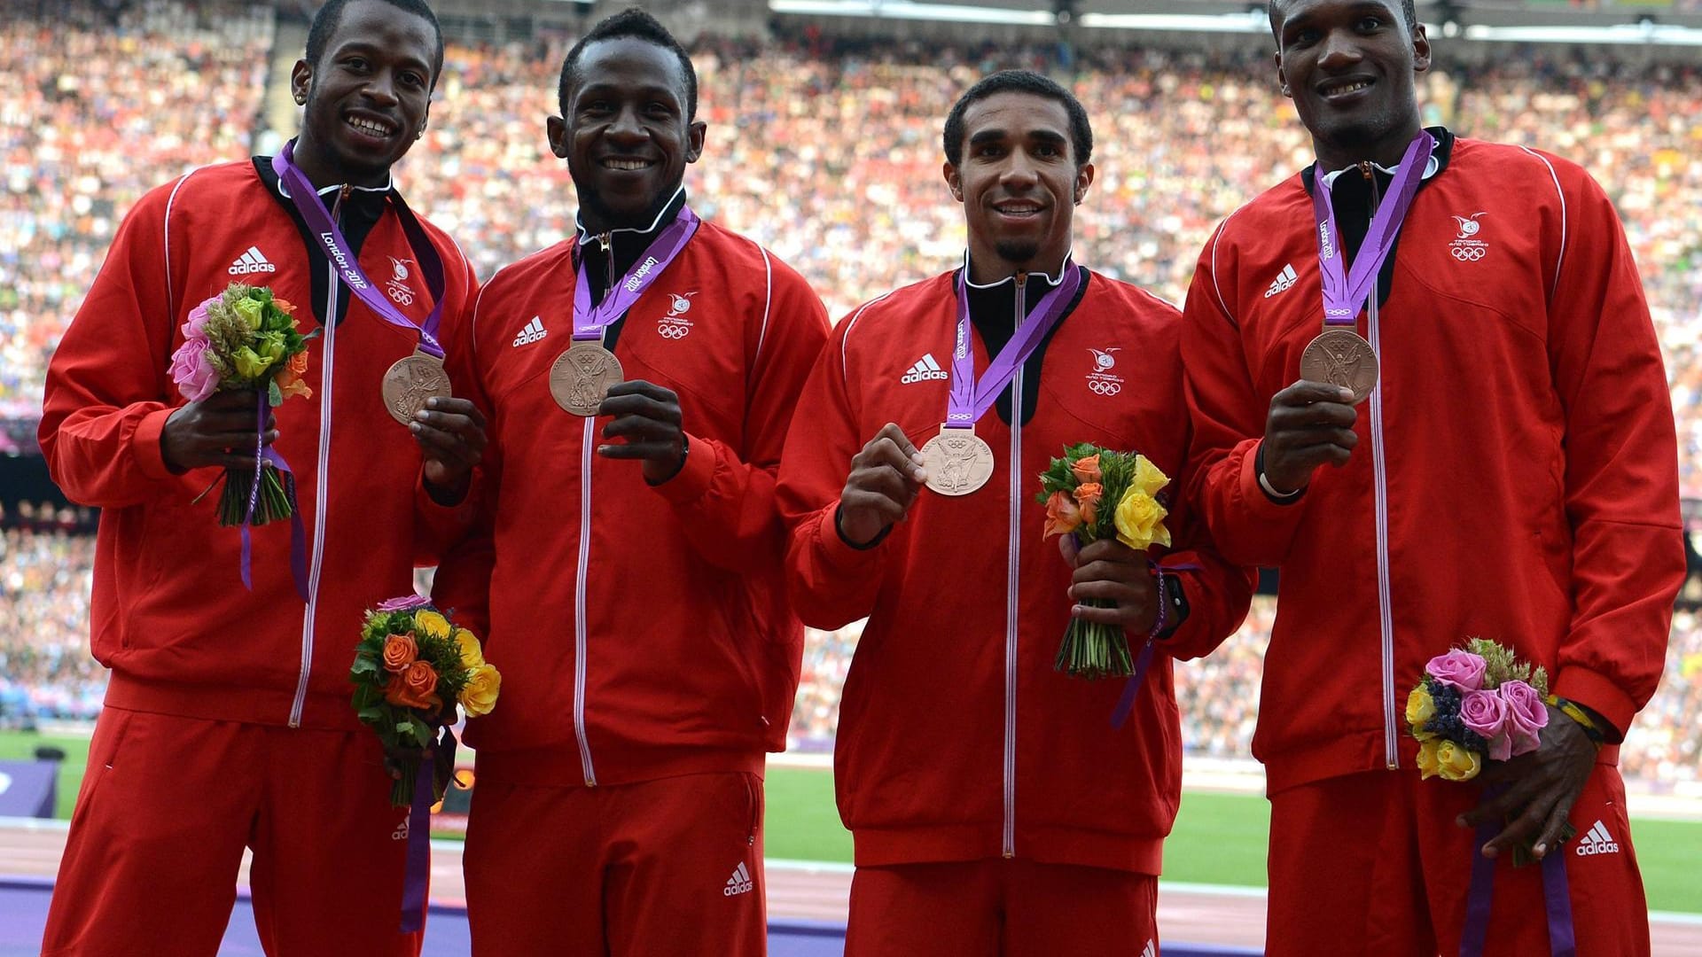
[[1619, 216], [1574, 163], [1440, 140], [1387, 298], [1362, 313], [1382, 378], [1360, 444], [1294, 504], [1261, 492], [1254, 458], [1322, 327], [1305, 181], [1225, 220], [1188, 293], [1195, 497], [1225, 555], [1282, 567], [1253, 737], [1273, 792], [1411, 766], [1406, 695], [1467, 637], [1544, 664], [1619, 729], [1661, 676], [1678, 455]]

